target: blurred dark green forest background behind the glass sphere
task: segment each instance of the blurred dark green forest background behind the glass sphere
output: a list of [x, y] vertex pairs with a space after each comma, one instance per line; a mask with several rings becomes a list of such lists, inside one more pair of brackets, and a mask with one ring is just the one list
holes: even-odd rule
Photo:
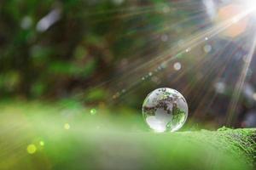
[[[146, 95], [168, 87], [187, 99], [189, 120], [224, 125], [252, 35], [204, 37], [185, 47], [187, 38], [215, 24], [206, 2], [2, 0], [1, 100], [65, 100], [141, 114]], [[187, 53], [168, 65], [155, 60], [183, 47]], [[255, 63], [235, 100], [235, 127], [256, 126]]]

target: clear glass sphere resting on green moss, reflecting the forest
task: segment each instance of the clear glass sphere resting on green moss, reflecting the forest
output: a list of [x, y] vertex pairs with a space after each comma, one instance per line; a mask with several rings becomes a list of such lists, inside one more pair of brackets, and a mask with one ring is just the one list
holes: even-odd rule
[[183, 95], [172, 88], [158, 88], [143, 102], [143, 118], [155, 132], [175, 132], [186, 122], [189, 108]]

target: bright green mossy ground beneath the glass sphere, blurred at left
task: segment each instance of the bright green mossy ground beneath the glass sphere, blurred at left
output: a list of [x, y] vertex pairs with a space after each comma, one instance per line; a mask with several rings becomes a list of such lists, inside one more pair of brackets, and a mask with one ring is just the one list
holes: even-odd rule
[[0, 109], [0, 169], [253, 169], [255, 161], [255, 129], [153, 133], [126, 110]]

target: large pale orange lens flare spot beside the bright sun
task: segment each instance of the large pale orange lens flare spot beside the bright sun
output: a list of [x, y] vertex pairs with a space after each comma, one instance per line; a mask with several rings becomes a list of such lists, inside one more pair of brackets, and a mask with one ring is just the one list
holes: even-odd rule
[[242, 8], [241, 5], [236, 4], [231, 4], [218, 10], [218, 23], [224, 22], [226, 20], [233, 22], [232, 25], [223, 32], [224, 36], [237, 37], [246, 31], [248, 18], [245, 16], [240, 20], [239, 17], [242, 13], [244, 13], [244, 8]]

